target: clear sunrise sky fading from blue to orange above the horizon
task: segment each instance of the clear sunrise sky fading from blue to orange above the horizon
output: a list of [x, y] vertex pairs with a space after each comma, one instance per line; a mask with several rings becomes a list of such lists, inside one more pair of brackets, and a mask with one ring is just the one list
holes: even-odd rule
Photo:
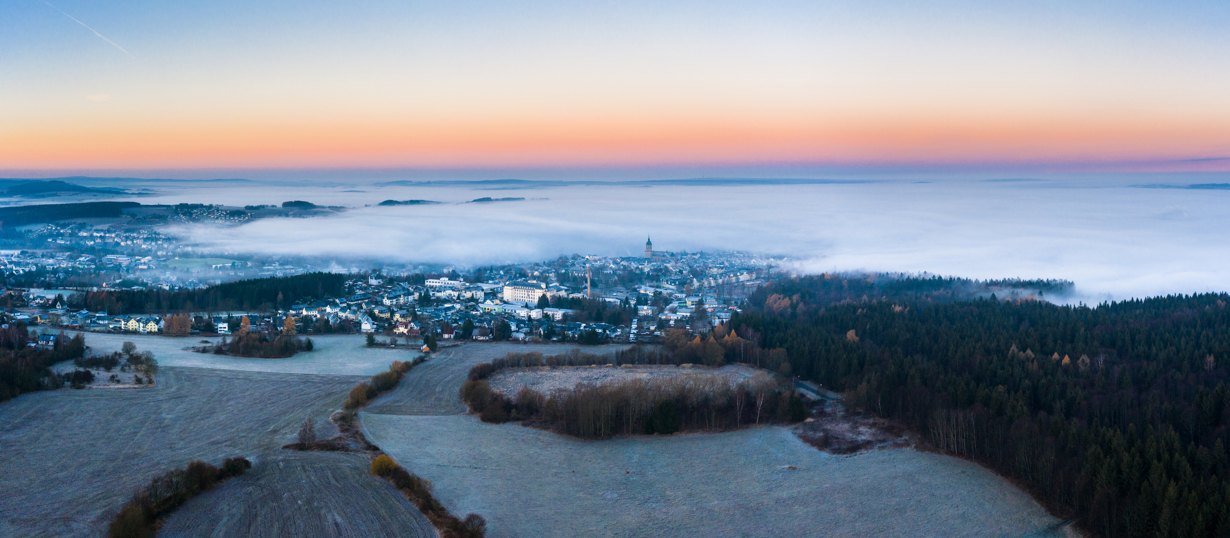
[[1199, 0], [12, 0], [0, 171], [1230, 171], [1228, 27]]

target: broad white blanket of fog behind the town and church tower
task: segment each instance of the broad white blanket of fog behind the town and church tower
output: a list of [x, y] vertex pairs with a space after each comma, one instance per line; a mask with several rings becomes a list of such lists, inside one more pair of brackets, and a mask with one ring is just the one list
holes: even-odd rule
[[[490, 195], [526, 200], [455, 204]], [[812, 273], [1069, 279], [1086, 301], [1230, 290], [1230, 244], [1224, 238], [1230, 192], [1077, 181], [886, 181], [498, 193], [465, 187], [250, 187], [167, 198], [359, 206], [330, 217], [181, 230], [202, 247], [230, 252], [472, 265], [571, 253], [636, 254], [648, 235], [658, 249], [788, 255], [800, 270]], [[362, 206], [385, 199], [448, 204]]]

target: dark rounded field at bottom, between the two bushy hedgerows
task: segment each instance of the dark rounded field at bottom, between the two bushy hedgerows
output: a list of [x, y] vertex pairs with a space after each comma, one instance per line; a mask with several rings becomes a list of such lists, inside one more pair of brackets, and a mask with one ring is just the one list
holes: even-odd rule
[[161, 538], [428, 538], [435, 529], [368, 458], [279, 451], [176, 510]]

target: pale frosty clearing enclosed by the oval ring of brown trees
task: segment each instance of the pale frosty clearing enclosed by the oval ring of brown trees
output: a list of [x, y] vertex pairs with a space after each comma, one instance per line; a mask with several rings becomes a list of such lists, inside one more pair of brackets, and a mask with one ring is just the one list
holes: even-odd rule
[[764, 373], [756, 368], [742, 365], [726, 365], [718, 368], [705, 366], [566, 366], [566, 367], [534, 367], [534, 368], [508, 368], [496, 372], [487, 378], [487, 383], [494, 391], [513, 396], [522, 387], [530, 387], [544, 394], [557, 388], [572, 388], [577, 383], [603, 384], [610, 381], [624, 380], [649, 380], [654, 377], [675, 376], [723, 376], [732, 384], [743, 380]]

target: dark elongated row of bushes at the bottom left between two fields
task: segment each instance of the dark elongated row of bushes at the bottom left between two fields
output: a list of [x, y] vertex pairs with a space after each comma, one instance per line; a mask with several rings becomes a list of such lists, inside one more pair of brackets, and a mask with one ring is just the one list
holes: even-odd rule
[[188, 499], [218, 483], [244, 474], [252, 467], [246, 458], [229, 458], [221, 468], [193, 461], [183, 469], [172, 469], [138, 489], [119, 509], [107, 527], [108, 538], [151, 538], [155, 521], [182, 506]]

